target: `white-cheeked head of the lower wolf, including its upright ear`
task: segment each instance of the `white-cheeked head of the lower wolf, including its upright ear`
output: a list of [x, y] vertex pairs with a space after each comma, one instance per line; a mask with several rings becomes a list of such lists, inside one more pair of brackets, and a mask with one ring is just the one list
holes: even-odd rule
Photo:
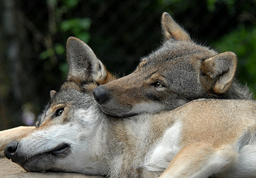
[[99, 155], [102, 145], [94, 139], [100, 136], [97, 129], [105, 115], [91, 90], [114, 77], [81, 40], [68, 39], [67, 55], [67, 82], [58, 92], [50, 91], [49, 104], [39, 116], [36, 129], [12, 141], [4, 153], [28, 171], [101, 174], [106, 169]]

